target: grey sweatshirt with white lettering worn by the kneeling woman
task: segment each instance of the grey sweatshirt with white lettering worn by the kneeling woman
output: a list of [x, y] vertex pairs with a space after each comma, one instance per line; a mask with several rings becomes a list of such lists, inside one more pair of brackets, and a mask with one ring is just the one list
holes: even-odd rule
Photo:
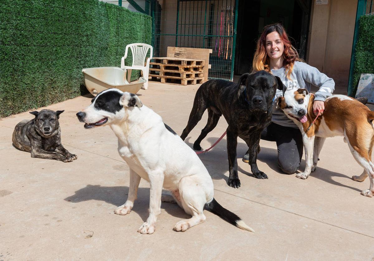
[[[298, 88], [306, 88], [310, 91], [312, 85], [319, 87], [319, 90], [315, 93], [315, 101], [325, 101], [334, 91], [334, 80], [328, 78], [324, 73], [319, 72], [317, 68], [307, 63], [295, 62], [290, 77], [291, 80], [286, 78], [286, 69], [284, 67], [278, 70], [272, 70], [272, 73], [281, 78], [283, 84], [287, 87], [287, 91], [292, 89], [297, 90]], [[283, 91], [277, 90], [274, 102], [282, 95]], [[273, 110], [272, 122], [286, 127], [298, 128], [291, 119], [288, 119], [279, 107]]]

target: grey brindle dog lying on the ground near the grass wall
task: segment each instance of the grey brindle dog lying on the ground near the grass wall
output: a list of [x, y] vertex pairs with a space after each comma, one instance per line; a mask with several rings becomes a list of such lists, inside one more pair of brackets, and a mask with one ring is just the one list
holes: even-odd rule
[[14, 128], [12, 141], [14, 147], [31, 152], [32, 158], [47, 158], [70, 162], [77, 155], [68, 152], [61, 144], [59, 115], [64, 111], [31, 111], [32, 120], [22, 120]]

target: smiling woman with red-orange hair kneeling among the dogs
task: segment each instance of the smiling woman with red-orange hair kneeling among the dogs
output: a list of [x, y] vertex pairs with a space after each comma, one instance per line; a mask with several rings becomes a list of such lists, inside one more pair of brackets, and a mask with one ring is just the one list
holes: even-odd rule
[[[324, 110], [325, 99], [334, 91], [334, 80], [299, 58], [279, 23], [265, 26], [257, 41], [253, 72], [259, 70], [281, 78], [287, 90], [306, 88], [310, 91], [311, 85], [317, 86], [319, 90], [315, 93], [313, 110]], [[279, 96], [282, 96], [282, 91], [278, 90], [276, 97]], [[276, 142], [278, 164], [284, 173], [297, 172], [303, 156], [303, 139], [297, 125], [280, 108], [273, 111], [272, 123], [261, 133], [261, 139]], [[248, 163], [248, 158], [247, 151], [243, 161]]]

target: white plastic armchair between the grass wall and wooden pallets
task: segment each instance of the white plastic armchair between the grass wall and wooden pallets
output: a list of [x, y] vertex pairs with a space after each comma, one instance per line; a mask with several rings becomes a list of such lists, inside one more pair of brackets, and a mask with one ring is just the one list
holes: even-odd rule
[[[125, 59], [127, 57], [127, 52], [129, 48], [132, 52], [132, 65], [125, 66]], [[147, 58], [147, 53], [149, 49], [151, 49], [150, 57], [147, 59], [147, 63], [144, 66], [145, 59]], [[121, 68], [127, 71], [127, 81], [125, 79], [126, 83], [129, 83], [131, 81], [132, 69], [141, 70], [143, 72], [143, 78], [145, 79], [144, 89], [148, 89], [149, 62], [152, 59], [152, 55], [153, 47], [149, 44], [135, 43], [126, 45], [125, 56], [123, 56], [121, 59]]]

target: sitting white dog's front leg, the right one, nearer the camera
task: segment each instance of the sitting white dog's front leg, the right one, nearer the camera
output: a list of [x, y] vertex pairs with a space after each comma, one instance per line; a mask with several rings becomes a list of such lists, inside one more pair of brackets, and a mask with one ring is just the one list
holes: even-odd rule
[[148, 177], [150, 183], [149, 217], [138, 229], [138, 232], [142, 234], [153, 234], [154, 230], [156, 230], [157, 217], [161, 213], [161, 194], [164, 174], [159, 171], [148, 172]]

